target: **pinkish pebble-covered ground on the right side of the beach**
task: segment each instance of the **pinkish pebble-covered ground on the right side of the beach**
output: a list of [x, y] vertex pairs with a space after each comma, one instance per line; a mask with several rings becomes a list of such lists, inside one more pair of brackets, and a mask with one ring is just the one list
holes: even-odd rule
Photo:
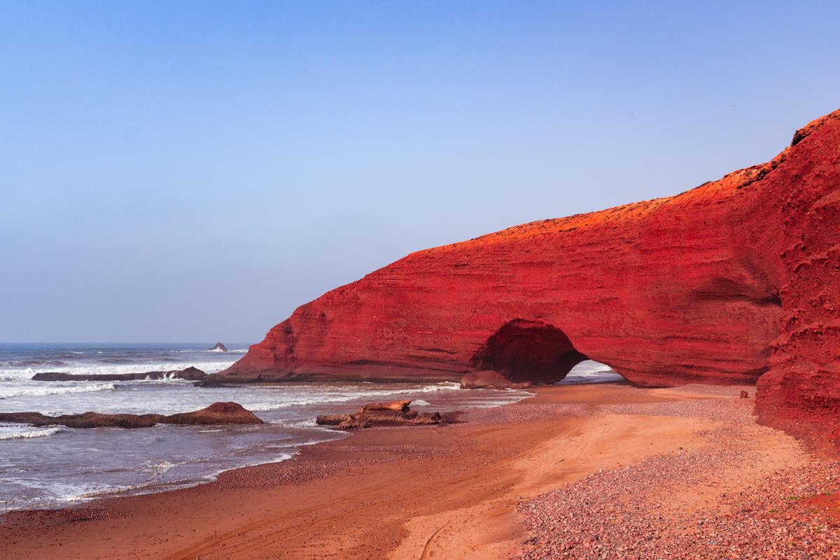
[[[618, 414], [706, 416], [721, 426], [701, 432], [708, 445], [596, 473], [522, 501], [518, 510], [529, 539], [518, 558], [840, 557], [837, 517], [813, 501], [840, 490], [840, 463], [811, 456], [785, 434], [758, 426], [751, 405], [729, 396], [602, 406]], [[768, 437], [790, 439], [783, 444], [793, 446], [796, 464], [768, 470], [766, 449], [762, 453]]]

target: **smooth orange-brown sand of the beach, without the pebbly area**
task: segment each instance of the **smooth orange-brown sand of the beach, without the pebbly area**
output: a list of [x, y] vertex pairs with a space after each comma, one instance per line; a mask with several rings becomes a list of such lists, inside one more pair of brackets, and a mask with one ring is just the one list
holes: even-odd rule
[[[550, 493], [650, 460], [709, 458], [728, 448], [709, 439], [715, 430], [764, 453], [716, 459], [722, 473], [750, 473], [741, 489], [785, 466], [806, 469], [804, 447], [755, 424], [741, 389], [537, 387], [532, 398], [465, 411], [458, 423], [354, 432], [183, 489], [9, 511], [0, 516], [0, 557], [550, 557], [541, 554], [557, 545], [557, 531], [541, 533], [534, 513], [554, 504]], [[727, 494], [704, 489], [706, 501], [695, 503], [691, 486], [706, 482], [680, 477], [688, 504]], [[712, 486], [729, 484], [718, 478]]]

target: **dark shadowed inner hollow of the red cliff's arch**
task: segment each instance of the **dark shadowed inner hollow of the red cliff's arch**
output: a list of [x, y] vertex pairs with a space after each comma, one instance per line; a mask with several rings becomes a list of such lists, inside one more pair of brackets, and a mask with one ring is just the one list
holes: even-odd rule
[[470, 365], [476, 370], [495, 370], [514, 383], [550, 384], [586, 359], [558, 327], [514, 319], [487, 338]]

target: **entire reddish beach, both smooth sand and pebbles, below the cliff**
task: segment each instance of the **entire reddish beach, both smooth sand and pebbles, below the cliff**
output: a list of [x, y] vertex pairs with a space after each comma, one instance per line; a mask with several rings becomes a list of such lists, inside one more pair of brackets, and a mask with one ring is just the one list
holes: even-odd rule
[[742, 389], [546, 387], [218, 481], [0, 523], [0, 558], [829, 558], [840, 469]]

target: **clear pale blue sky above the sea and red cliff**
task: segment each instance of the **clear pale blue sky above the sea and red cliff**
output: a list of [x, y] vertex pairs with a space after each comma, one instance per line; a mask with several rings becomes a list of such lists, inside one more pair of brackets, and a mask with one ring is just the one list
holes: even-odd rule
[[840, 3], [0, 0], [0, 342], [258, 342], [840, 107]]

